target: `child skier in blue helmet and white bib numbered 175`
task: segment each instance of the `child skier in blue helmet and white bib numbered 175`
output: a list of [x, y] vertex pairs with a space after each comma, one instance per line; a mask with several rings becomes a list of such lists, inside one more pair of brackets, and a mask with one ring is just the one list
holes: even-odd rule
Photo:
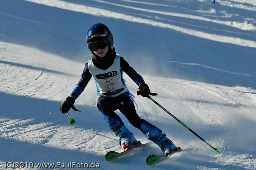
[[[140, 144], [134, 135], [125, 127], [121, 118], [114, 112], [119, 109], [128, 121], [155, 144], [157, 144], [163, 155], [168, 156], [179, 150], [172, 141], [162, 133], [160, 129], [143, 120], [137, 114], [133, 98], [125, 85], [123, 72], [125, 72], [138, 86], [137, 95], [148, 97], [154, 95], [143, 78], [125, 61], [124, 58], [116, 55], [113, 47], [113, 36], [107, 26], [97, 23], [90, 27], [87, 32], [87, 45], [93, 53], [93, 58], [85, 64], [81, 80], [73, 89], [73, 92], [61, 104], [61, 112], [69, 111], [76, 98], [87, 86], [91, 77], [96, 81], [98, 98], [97, 107], [102, 112], [110, 129], [119, 136], [119, 144], [124, 150], [132, 145]], [[155, 94], [157, 95], [157, 94]]]

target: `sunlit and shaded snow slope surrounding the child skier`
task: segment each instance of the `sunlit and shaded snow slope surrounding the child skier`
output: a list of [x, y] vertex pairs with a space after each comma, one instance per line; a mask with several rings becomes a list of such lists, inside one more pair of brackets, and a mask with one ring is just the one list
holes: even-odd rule
[[[255, 0], [0, 0], [0, 169], [6, 161], [100, 164], [99, 169], [256, 169]], [[116, 52], [140, 73], [154, 99], [218, 147], [212, 149], [147, 98], [141, 118], [181, 148], [157, 166], [155, 144], [136, 156], [105, 160], [119, 138], [94, 106], [91, 80], [70, 110], [59, 107], [91, 58], [85, 37], [95, 23], [113, 33]], [[125, 75], [130, 91], [137, 85]], [[148, 139], [127, 127], [143, 143]], [[27, 169], [27, 168], [24, 168]], [[35, 167], [33, 168], [35, 169]], [[53, 169], [61, 169], [53, 168]], [[78, 169], [75, 167], [75, 169]]]

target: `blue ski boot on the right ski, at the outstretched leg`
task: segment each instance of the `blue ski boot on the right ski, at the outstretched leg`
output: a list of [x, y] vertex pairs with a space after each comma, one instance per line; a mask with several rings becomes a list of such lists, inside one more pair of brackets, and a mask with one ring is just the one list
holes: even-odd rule
[[165, 134], [157, 139], [155, 143], [161, 148], [164, 156], [169, 156], [172, 153], [181, 150], [180, 147], [176, 147], [175, 144], [173, 144], [172, 141], [167, 138]]

